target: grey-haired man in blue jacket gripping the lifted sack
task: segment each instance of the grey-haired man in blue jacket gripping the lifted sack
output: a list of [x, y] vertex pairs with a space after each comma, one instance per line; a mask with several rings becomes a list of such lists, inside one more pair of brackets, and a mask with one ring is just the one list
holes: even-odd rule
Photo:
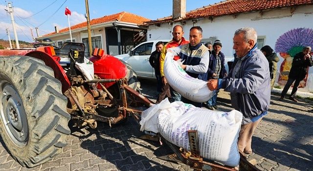
[[231, 105], [242, 112], [243, 121], [238, 137], [240, 151], [250, 154], [252, 135], [268, 113], [270, 102], [270, 76], [268, 61], [257, 48], [257, 33], [244, 27], [235, 31], [233, 49], [235, 61], [226, 78], [209, 80], [210, 90], [224, 88], [230, 92]]

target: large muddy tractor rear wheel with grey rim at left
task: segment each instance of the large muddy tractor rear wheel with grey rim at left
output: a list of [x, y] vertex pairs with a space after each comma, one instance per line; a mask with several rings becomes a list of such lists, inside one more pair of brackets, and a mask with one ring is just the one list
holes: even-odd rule
[[67, 145], [67, 98], [53, 70], [27, 56], [0, 57], [0, 134], [26, 167], [45, 163]]

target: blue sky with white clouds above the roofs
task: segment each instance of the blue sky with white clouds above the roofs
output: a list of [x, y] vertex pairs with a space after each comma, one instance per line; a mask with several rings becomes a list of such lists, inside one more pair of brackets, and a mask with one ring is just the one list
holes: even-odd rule
[[[86, 21], [85, 0], [0, 0], [0, 39], [15, 39], [11, 17], [5, 11], [7, 2], [12, 2], [14, 20], [19, 41], [34, 42], [33, 38], [54, 32], [54, 26], [60, 29], [68, 27], [65, 7], [71, 11], [70, 25]], [[186, 0], [186, 12], [221, 2], [221, 0]], [[151, 20], [172, 15], [173, 0], [89, 0], [90, 20], [116, 14], [130, 12]], [[32, 30], [32, 31], [31, 31]], [[33, 34], [33, 36], [32, 36]]]

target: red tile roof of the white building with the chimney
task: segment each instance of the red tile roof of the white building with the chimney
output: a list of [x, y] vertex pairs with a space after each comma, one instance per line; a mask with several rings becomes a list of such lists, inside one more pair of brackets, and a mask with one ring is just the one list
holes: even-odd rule
[[186, 13], [186, 17], [173, 20], [172, 16], [146, 21], [142, 25], [151, 25], [168, 21], [184, 21], [203, 17], [219, 17], [251, 11], [262, 11], [266, 9], [292, 7], [299, 5], [312, 5], [313, 0], [225, 0], [213, 5], [203, 6]]

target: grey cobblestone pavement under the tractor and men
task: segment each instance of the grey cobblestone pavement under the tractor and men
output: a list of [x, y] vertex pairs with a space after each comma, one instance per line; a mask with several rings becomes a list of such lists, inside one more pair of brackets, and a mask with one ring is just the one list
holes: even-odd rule
[[[156, 100], [156, 83], [140, 80], [142, 92]], [[313, 171], [313, 102], [299, 99], [278, 101], [272, 94], [269, 113], [260, 122], [252, 139], [253, 153], [262, 171]], [[229, 94], [220, 91], [220, 110], [231, 110]], [[35, 168], [21, 167], [5, 150], [0, 138], [0, 171], [190, 171], [184, 164], [159, 159], [171, 153], [157, 142], [141, 140], [139, 125], [128, 122], [110, 128], [98, 123], [98, 128], [71, 127], [68, 145], [53, 160]]]

